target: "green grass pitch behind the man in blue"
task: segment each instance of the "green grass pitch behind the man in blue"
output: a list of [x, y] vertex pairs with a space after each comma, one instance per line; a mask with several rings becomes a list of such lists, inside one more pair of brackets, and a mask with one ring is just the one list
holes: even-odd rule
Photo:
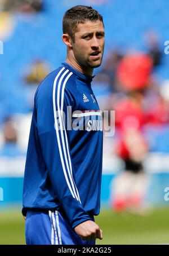
[[[169, 208], [155, 209], [149, 215], [117, 214], [101, 210], [95, 221], [103, 229], [103, 240], [96, 244], [169, 243]], [[24, 219], [20, 210], [0, 211], [0, 244], [25, 244]]]

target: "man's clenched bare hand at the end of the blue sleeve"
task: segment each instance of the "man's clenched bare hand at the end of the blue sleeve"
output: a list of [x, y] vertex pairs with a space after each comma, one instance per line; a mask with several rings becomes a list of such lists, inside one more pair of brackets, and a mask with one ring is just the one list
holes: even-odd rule
[[74, 231], [82, 240], [92, 241], [96, 239], [103, 239], [103, 231], [92, 220], [87, 220], [86, 222], [79, 224], [74, 228]]

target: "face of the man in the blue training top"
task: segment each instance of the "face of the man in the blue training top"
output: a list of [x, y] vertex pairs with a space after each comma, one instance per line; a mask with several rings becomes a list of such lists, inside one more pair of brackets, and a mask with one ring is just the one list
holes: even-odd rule
[[74, 35], [73, 53], [75, 59], [86, 68], [97, 68], [101, 65], [104, 52], [104, 26], [98, 21], [86, 21], [78, 24]]

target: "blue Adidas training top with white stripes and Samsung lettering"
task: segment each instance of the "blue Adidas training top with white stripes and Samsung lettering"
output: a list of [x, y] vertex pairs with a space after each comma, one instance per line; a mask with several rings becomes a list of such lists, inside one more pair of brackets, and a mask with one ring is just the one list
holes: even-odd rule
[[92, 78], [63, 63], [35, 93], [24, 215], [27, 209], [60, 210], [74, 228], [100, 212], [103, 121]]

